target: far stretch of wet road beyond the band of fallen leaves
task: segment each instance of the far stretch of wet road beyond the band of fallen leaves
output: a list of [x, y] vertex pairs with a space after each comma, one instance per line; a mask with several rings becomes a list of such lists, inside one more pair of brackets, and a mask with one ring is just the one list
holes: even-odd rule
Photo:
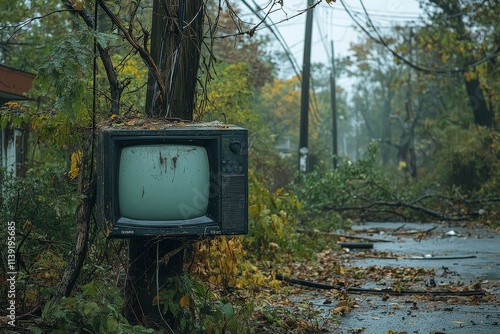
[[[415, 240], [418, 234], [406, 231], [430, 231], [429, 237]], [[391, 242], [375, 242], [375, 251], [400, 254], [398, 266], [448, 268], [462, 280], [500, 280], [500, 235], [484, 229], [415, 223], [366, 223], [353, 226], [356, 231], [380, 231], [376, 237]], [[391, 230], [396, 230], [391, 233]], [[401, 231], [401, 234], [398, 234]], [[357, 233], [359, 234], [359, 233]], [[375, 235], [370, 233], [371, 237]], [[387, 236], [387, 237], [386, 237]], [[365, 259], [357, 265], [394, 265], [393, 260]]]

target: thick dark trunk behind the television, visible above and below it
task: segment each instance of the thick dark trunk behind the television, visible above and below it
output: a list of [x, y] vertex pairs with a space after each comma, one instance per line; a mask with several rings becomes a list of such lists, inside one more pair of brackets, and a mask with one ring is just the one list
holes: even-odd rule
[[[145, 111], [148, 117], [193, 119], [204, 10], [203, 0], [154, 0], [150, 53], [165, 94], [161, 94], [150, 72]], [[166, 320], [174, 325], [175, 319], [153, 303], [166, 280], [182, 272], [186, 242], [190, 240], [130, 240], [125, 291], [129, 321], [148, 325]]]

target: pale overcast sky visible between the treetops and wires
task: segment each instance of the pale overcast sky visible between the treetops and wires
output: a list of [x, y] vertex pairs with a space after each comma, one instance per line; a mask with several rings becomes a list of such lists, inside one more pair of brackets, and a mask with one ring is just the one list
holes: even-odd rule
[[[313, 12], [313, 47], [311, 52], [311, 62], [331, 63], [331, 41], [334, 42], [335, 56], [348, 55], [349, 45], [358, 41], [359, 37], [366, 37], [359, 29], [355, 29], [355, 23], [349, 17], [341, 0], [332, 2], [330, 5], [326, 1], [321, 2], [314, 8]], [[257, 3], [267, 11], [269, 0], [250, 0], [248, 4], [254, 6]], [[367, 25], [366, 16], [362, 3], [359, 0], [349, 0], [344, 3], [355, 18]], [[275, 32], [283, 37], [284, 44], [291, 51], [297, 64], [302, 68], [302, 58], [304, 53], [305, 21], [306, 14], [298, 15], [307, 8], [307, 0], [283, 0], [283, 9], [275, 6], [275, 11], [271, 20], [275, 25]], [[390, 26], [399, 24], [406, 25], [418, 20], [421, 12], [419, 2], [415, 0], [363, 0], [370, 18], [380, 32], [384, 33]], [[268, 21], [271, 23], [271, 21]], [[257, 33], [268, 31], [263, 29]], [[272, 37], [275, 38], [274, 36]], [[277, 50], [282, 50], [280, 44], [273, 42]]]

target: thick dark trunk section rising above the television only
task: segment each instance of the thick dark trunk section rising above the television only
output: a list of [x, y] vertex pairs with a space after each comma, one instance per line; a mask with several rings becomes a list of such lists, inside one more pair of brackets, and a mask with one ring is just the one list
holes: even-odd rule
[[166, 96], [159, 94], [150, 72], [148, 116], [193, 119], [204, 15], [203, 0], [154, 2], [151, 56], [164, 80]]

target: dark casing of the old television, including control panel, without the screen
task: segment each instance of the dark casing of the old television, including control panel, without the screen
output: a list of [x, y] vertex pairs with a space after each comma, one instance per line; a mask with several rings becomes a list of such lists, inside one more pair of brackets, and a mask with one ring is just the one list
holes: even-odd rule
[[[123, 217], [118, 199], [121, 150], [133, 145], [168, 143], [199, 145], [207, 150], [211, 187], [207, 214], [173, 221]], [[158, 129], [101, 127], [97, 151], [97, 210], [99, 225], [110, 238], [199, 238], [248, 233], [247, 130], [221, 123], [167, 123]]]

